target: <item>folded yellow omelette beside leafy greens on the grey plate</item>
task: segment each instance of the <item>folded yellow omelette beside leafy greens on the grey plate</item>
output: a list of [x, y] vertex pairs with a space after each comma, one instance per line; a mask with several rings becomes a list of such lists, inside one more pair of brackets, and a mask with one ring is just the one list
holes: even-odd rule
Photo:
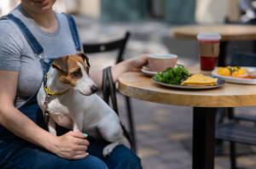
[[186, 81], [183, 81], [181, 85], [189, 85], [189, 86], [213, 86], [218, 81], [218, 78], [213, 78], [210, 76], [204, 76], [201, 74], [195, 74], [189, 76]]

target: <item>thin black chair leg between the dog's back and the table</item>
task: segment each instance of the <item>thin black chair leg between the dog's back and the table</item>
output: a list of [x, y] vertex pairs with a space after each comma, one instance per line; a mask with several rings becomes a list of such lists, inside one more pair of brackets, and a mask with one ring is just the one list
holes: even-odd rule
[[129, 127], [130, 127], [130, 132], [131, 132], [131, 139], [133, 142], [133, 151], [137, 152], [137, 143], [136, 143], [136, 134], [135, 134], [135, 129], [134, 129], [134, 123], [133, 123], [133, 116], [132, 116], [132, 111], [131, 111], [131, 101], [128, 96], [125, 96], [125, 101], [126, 101], [126, 108], [127, 108], [127, 114], [128, 114], [128, 120], [129, 120]]

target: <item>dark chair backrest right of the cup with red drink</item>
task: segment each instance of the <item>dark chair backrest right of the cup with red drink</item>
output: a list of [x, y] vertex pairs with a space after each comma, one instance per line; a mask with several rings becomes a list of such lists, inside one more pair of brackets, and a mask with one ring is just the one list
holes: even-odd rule
[[241, 52], [237, 51], [237, 48], [233, 49], [233, 53], [231, 55], [230, 65], [232, 66], [256, 66], [256, 54], [249, 52]]

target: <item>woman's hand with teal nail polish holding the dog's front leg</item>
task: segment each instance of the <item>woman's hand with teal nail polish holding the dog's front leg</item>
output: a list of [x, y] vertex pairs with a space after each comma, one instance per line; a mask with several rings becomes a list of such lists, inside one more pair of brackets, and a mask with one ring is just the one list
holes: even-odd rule
[[86, 150], [90, 144], [85, 138], [83, 132], [67, 132], [56, 137], [49, 150], [65, 159], [82, 159], [88, 155]]

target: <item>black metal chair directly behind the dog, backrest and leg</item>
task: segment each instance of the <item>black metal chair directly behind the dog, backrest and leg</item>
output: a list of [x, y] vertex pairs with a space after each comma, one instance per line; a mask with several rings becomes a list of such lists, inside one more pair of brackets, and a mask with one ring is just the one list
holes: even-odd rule
[[[102, 42], [102, 43], [83, 43], [84, 48], [84, 54], [95, 54], [95, 53], [104, 53], [109, 51], [118, 51], [118, 55], [115, 59], [115, 63], [118, 64], [119, 62], [124, 60], [124, 51], [125, 51], [125, 45], [130, 37], [130, 32], [125, 33], [125, 37], [122, 37], [117, 40], [113, 40], [111, 42]], [[134, 129], [134, 122], [133, 122], [133, 115], [131, 111], [131, 100], [129, 97], [125, 97], [125, 103], [126, 103], [126, 110], [128, 115], [128, 123], [129, 128], [131, 132], [131, 139], [132, 139], [132, 147], [131, 149], [136, 152], [136, 136], [135, 136], [135, 129]]]

